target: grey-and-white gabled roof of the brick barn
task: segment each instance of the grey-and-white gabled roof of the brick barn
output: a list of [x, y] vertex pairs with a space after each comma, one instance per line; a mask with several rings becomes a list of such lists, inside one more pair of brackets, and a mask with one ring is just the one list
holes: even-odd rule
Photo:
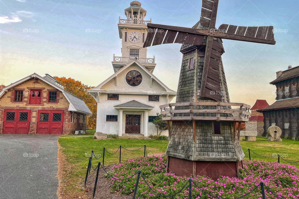
[[[1, 91], [0, 91], [0, 97], [2, 97], [2, 95], [4, 95], [5, 92], [8, 91], [8, 89], [17, 86], [21, 83], [23, 83], [24, 81], [30, 80], [31, 78], [36, 77], [38, 79], [40, 79], [41, 81], [44, 81], [45, 83], [53, 86], [54, 88], [56, 88], [57, 90], [60, 90], [63, 95], [65, 96], [65, 98], [69, 101], [69, 111], [75, 111], [75, 112], [81, 112], [81, 113], [85, 113], [85, 114], [89, 114], [91, 115], [92, 112], [88, 109], [87, 105], [85, 104], [85, 102], [83, 101], [83, 99], [78, 98], [77, 96], [71, 94], [70, 92], [64, 90], [61, 86], [56, 85], [53, 81], [50, 81], [48, 78], [44, 78], [36, 73], [33, 73], [32, 75], [26, 76], [23, 79], [16, 81], [6, 87], [4, 87]], [[54, 79], [54, 78], [53, 78]]]

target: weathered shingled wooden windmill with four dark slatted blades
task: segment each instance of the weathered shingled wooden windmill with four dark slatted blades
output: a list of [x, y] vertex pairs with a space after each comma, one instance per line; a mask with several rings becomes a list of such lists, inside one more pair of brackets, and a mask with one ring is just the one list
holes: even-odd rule
[[275, 44], [273, 26], [222, 24], [216, 29], [217, 9], [218, 0], [202, 0], [200, 21], [192, 28], [148, 24], [143, 47], [183, 44], [176, 103], [160, 106], [163, 120], [173, 121], [166, 155], [168, 171], [177, 175], [238, 176], [244, 157], [240, 123], [248, 121], [250, 106], [230, 103], [222, 39]]

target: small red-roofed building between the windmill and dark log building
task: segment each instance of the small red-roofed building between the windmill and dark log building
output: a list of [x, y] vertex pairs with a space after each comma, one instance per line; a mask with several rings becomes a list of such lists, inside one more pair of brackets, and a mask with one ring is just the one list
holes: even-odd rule
[[258, 136], [261, 136], [264, 132], [264, 116], [263, 113], [259, 113], [256, 110], [268, 107], [269, 104], [265, 99], [257, 99], [255, 104], [252, 106], [251, 117], [249, 122], [246, 123], [246, 131], [256, 131]]

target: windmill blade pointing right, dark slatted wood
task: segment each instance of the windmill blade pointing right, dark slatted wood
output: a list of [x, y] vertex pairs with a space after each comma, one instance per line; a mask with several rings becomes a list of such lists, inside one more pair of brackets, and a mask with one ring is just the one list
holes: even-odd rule
[[[200, 32], [200, 31], [199, 31]], [[202, 32], [200, 32], [202, 33]], [[275, 44], [273, 26], [237, 26], [222, 24], [217, 33], [220, 38], [238, 41], [248, 41], [261, 44]], [[215, 37], [218, 37], [214, 35]], [[203, 33], [202, 33], [203, 34]]]

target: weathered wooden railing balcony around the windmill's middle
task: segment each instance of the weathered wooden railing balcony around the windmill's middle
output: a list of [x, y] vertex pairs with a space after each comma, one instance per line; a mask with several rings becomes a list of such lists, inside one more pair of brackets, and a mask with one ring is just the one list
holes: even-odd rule
[[[199, 106], [209, 106], [215, 109], [199, 109]], [[238, 106], [239, 110], [231, 109], [231, 106]], [[222, 109], [221, 109], [222, 107]], [[225, 108], [225, 109], [224, 109]], [[160, 106], [162, 119], [168, 121], [175, 120], [216, 120], [216, 121], [235, 121], [248, 122], [249, 109], [248, 104], [231, 102], [182, 102], [170, 103]], [[204, 113], [210, 116], [202, 116]], [[227, 113], [227, 114], [221, 114]], [[237, 117], [233, 117], [237, 114]], [[226, 115], [226, 116], [223, 116]]]

